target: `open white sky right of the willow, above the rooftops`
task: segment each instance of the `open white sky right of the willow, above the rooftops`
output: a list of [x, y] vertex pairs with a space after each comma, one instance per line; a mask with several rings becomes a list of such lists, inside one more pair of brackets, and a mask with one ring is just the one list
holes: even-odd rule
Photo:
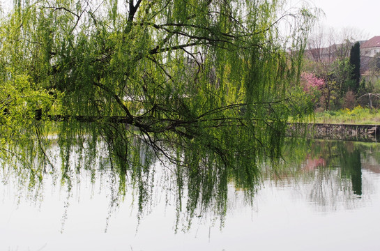
[[321, 17], [321, 23], [326, 28], [355, 29], [363, 33], [362, 39], [380, 36], [379, 0], [308, 1], [324, 10], [326, 17]]

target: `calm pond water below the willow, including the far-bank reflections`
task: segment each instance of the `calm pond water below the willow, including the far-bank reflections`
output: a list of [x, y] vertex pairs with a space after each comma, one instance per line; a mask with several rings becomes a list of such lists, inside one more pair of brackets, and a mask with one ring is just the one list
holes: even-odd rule
[[262, 166], [252, 203], [231, 181], [225, 219], [200, 210], [190, 229], [158, 164], [142, 214], [110, 170], [30, 188], [0, 169], [0, 250], [380, 250], [380, 146], [314, 141], [285, 155]]

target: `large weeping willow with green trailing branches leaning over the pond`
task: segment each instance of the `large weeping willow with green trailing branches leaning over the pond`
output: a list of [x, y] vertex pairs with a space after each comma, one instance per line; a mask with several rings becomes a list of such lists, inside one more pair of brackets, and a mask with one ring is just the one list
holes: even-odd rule
[[315, 16], [284, 3], [14, 1], [0, 26], [3, 137], [33, 132], [46, 163], [43, 121], [61, 121], [63, 177], [72, 146], [93, 146], [91, 164], [101, 139], [121, 193], [134, 183], [140, 205], [143, 176], [160, 161], [178, 211], [185, 191], [190, 218], [210, 205], [223, 214], [227, 183], [254, 191], [259, 163], [281, 155], [289, 116], [312, 109], [296, 90]]

